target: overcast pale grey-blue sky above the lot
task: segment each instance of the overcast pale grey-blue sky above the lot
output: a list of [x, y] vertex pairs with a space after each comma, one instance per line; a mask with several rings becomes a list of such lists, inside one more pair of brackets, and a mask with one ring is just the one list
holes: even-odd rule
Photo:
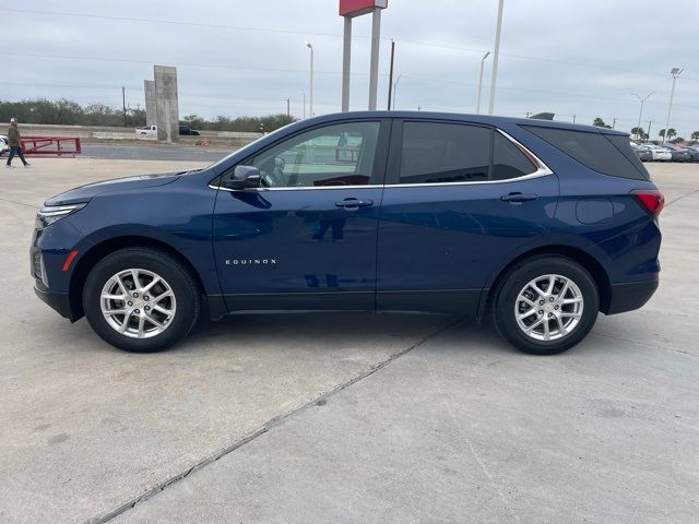
[[[4, 3], [4, 2], [3, 2]], [[382, 12], [379, 108], [386, 108], [391, 39], [396, 109], [475, 112], [481, 60], [495, 45], [498, 0], [389, 0]], [[296, 117], [340, 110], [342, 17], [337, 0], [35, 0], [2, 7], [0, 99], [66, 97], [81, 104], [144, 107], [153, 64], [178, 69], [180, 118]], [[351, 109], [366, 109], [370, 15], [353, 26]], [[557, 120], [595, 117], [629, 131], [633, 96], [653, 93], [641, 126], [665, 127], [672, 68], [677, 80], [670, 127], [699, 130], [699, 1], [505, 0], [495, 114], [552, 111]], [[485, 61], [487, 110], [491, 58]], [[308, 106], [307, 111], [309, 111]]]

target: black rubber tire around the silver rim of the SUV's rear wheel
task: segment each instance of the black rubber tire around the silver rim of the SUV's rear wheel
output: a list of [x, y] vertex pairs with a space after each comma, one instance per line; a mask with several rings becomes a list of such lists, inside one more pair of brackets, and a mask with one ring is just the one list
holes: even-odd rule
[[[561, 275], [569, 278], [578, 286], [583, 299], [578, 324], [568, 334], [554, 341], [538, 341], [529, 336], [518, 325], [516, 318], [514, 308], [520, 291], [528, 283], [543, 275]], [[561, 306], [562, 308], [565, 307]], [[502, 278], [496, 288], [493, 320], [500, 336], [518, 349], [532, 355], [556, 355], [571, 348], [590, 333], [599, 310], [597, 286], [582, 265], [565, 257], [543, 255], [522, 261]], [[554, 327], [557, 329], [556, 325]]]

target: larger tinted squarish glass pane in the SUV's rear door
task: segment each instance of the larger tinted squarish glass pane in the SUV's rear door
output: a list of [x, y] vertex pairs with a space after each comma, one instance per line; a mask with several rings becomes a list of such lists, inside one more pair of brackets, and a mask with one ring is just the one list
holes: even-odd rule
[[405, 122], [399, 183], [488, 180], [490, 130], [478, 126]]

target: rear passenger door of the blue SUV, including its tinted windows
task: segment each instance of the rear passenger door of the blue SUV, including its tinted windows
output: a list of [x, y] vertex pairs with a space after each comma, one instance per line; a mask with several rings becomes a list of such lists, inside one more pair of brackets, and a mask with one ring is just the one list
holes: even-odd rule
[[555, 175], [500, 131], [395, 121], [377, 308], [475, 312], [495, 269], [547, 231], [557, 196]]

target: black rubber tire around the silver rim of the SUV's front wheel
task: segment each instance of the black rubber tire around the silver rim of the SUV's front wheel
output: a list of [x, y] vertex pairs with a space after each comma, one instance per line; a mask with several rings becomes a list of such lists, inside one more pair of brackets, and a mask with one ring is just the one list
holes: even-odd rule
[[[114, 275], [140, 269], [155, 273], [167, 282], [175, 295], [176, 309], [171, 321], [159, 334], [150, 338], [132, 338], [112, 327], [102, 312], [102, 290]], [[200, 312], [200, 293], [189, 271], [179, 260], [150, 248], [128, 248], [102, 259], [90, 271], [83, 288], [83, 309], [92, 329], [105, 342], [133, 353], [158, 352], [170, 347], [191, 331]]]

